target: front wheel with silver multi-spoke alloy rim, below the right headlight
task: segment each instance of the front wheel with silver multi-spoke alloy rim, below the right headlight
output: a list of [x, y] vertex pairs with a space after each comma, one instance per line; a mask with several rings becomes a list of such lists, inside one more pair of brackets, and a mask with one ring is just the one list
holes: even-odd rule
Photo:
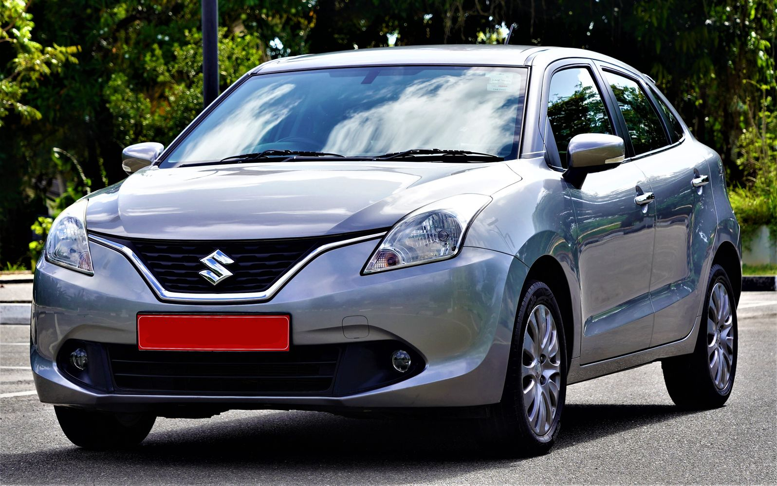
[[[502, 399], [492, 406], [483, 427], [487, 449], [499, 455], [547, 453], [559, 434], [566, 398], [566, 340], [559, 305], [542, 282], [528, 281], [527, 287], [514, 326]], [[542, 312], [552, 318], [552, 326], [534, 346], [533, 336], [543, 334]]]

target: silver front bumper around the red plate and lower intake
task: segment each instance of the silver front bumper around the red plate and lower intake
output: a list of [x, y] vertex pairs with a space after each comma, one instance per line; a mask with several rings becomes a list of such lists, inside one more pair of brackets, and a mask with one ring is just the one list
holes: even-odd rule
[[[465, 247], [451, 260], [360, 275], [376, 243], [323, 253], [270, 302], [241, 305], [160, 302], [124, 255], [93, 242], [92, 277], [41, 260], [31, 329], [31, 363], [40, 400], [101, 409], [159, 404], [465, 407], [499, 402], [517, 299], [528, 268], [505, 253]], [[292, 346], [399, 341], [419, 353], [425, 367], [403, 381], [347, 396], [106, 393], [79, 384], [58, 367], [57, 353], [68, 340], [137, 345], [136, 319], [145, 312], [287, 313]], [[346, 337], [343, 319], [354, 315], [368, 319], [367, 336]]]

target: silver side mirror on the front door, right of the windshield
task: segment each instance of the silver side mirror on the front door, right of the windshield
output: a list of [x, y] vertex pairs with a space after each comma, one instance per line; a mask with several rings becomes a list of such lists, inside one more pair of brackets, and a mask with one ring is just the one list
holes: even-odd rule
[[618, 167], [625, 158], [623, 139], [606, 133], [580, 133], [566, 147], [564, 179], [580, 188], [587, 174]]

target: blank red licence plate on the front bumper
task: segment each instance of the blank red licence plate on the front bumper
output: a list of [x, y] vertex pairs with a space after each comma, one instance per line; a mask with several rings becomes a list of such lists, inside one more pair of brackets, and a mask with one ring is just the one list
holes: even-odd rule
[[288, 315], [138, 315], [138, 350], [288, 351]]

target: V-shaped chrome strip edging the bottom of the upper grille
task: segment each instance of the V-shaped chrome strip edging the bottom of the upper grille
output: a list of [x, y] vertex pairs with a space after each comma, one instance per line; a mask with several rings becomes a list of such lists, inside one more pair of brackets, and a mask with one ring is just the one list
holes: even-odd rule
[[159, 283], [159, 281], [154, 277], [154, 274], [151, 273], [151, 271], [148, 270], [148, 268], [143, 264], [141, 259], [136, 255], [129, 247], [122, 245], [121, 243], [116, 243], [111, 240], [107, 240], [106, 238], [103, 238], [101, 236], [96, 236], [93, 234], [89, 235], [89, 240], [94, 243], [99, 243], [100, 245], [107, 246], [108, 248], [112, 250], [117, 250], [119, 253], [124, 254], [124, 257], [127, 257], [127, 260], [130, 260], [130, 263], [134, 265], [135, 268], [138, 269], [138, 271], [141, 273], [141, 276], [145, 279], [146, 283], [148, 283], [148, 286], [152, 288], [152, 290], [155, 292], [157, 297], [166, 302], [189, 302], [189, 303], [195, 303], [195, 304], [224, 304], [224, 303], [244, 303], [244, 302], [267, 302], [271, 298], [273, 298], [278, 291], [280, 291], [280, 288], [282, 288], [285, 284], [288, 283], [288, 281], [291, 280], [292, 277], [294, 277], [295, 274], [298, 273], [298, 271], [301, 271], [302, 267], [305, 267], [310, 261], [312, 261], [315, 257], [318, 257], [321, 253], [325, 253], [326, 251], [333, 250], [334, 248], [338, 248], [340, 246], [347, 246], [354, 243], [361, 243], [363, 241], [368, 240], [376, 240], [378, 238], [382, 238], [385, 236], [386, 232], [382, 233], [375, 233], [372, 235], [367, 236], [359, 236], [357, 238], [351, 238], [350, 240], [342, 240], [342, 241], [336, 241], [333, 243], [327, 243], [326, 245], [319, 246], [315, 250], [313, 250], [311, 253], [308, 253], [308, 255], [303, 258], [302, 260], [298, 261], [297, 264], [295, 264], [293, 267], [291, 267], [286, 273], [282, 274], [278, 280], [270, 285], [270, 288], [268, 288], [266, 291], [263, 292], [252, 292], [252, 293], [229, 293], [229, 294], [218, 294], [218, 293], [209, 293], [209, 294], [190, 294], [186, 292], [171, 292], [167, 291], [166, 288], [162, 287], [162, 284]]

